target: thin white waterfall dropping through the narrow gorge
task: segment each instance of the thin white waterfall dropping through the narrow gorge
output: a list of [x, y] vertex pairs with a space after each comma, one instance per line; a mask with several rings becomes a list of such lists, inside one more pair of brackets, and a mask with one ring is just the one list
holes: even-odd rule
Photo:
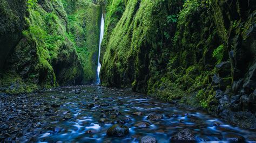
[[[104, 18], [103, 18], [103, 13], [102, 13], [102, 20], [100, 22], [99, 57], [100, 57], [100, 45], [102, 44], [103, 34], [104, 34]], [[102, 65], [100, 65], [100, 63], [99, 63], [99, 57], [98, 57], [98, 68], [97, 68], [96, 84], [100, 83], [99, 72], [100, 72], [100, 68], [102, 67]]]

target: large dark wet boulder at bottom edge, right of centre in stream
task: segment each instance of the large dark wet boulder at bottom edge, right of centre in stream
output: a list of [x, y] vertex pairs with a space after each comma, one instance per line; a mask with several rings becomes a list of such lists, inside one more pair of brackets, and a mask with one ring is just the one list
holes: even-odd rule
[[194, 137], [192, 131], [186, 128], [185, 130], [180, 131], [174, 135], [171, 140], [194, 141], [196, 138]]

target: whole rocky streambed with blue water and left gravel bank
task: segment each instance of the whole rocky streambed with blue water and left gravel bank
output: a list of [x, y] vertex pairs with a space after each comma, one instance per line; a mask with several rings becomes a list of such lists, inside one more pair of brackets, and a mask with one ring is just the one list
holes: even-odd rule
[[130, 90], [87, 85], [1, 94], [0, 140], [254, 142], [256, 132]]

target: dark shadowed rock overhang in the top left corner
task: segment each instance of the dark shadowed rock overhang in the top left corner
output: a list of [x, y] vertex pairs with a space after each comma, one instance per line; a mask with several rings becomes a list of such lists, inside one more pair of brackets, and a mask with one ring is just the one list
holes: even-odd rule
[[26, 0], [0, 2], [0, 72], [8, 55], [22, 38], [25, 27]]

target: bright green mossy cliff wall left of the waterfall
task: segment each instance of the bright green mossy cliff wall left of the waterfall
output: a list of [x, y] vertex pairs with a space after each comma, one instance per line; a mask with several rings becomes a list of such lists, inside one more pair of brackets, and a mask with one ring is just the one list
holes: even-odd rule
[[[10, 41], [12, 45], [8, 45], [12, 46], [12, 51], [4, 60], [1, 91], [17, 94], [39, 88], [93, 82], [96, 75], [93, 63], [96, 62], [92, 59], [93, 55], [97, 57], [98, 38], [92, 37], [98, 37], [99, 33], [99, 6], [86, 0], [80, 1], [77, 9], [68, 8], [68, 1], [40, 0], [21, 4], [25, 4], [23, 11], [26, 11], [26, 15], [12, 13], [12, 16], [20, 16], [21, 23], [26, 26], [18, 27], [19, 31], [16, 32], [20, 39], [15, 38], [17, 43]], [[6, 9], [8, 7], [1, 7], [1, 11]], [[12, 23], [6, 13], [1, 18], [7, 22], [3, 25]], [[95, 25], [96, 28], [87, 32], [90, 29], [88, 25]], [[7, 27], [8, 30], [12, 28]], [[90, 42], [95, 46], [91, 46]], [[1, 49], [9, 49], [8, 46], [1, 46]]]

